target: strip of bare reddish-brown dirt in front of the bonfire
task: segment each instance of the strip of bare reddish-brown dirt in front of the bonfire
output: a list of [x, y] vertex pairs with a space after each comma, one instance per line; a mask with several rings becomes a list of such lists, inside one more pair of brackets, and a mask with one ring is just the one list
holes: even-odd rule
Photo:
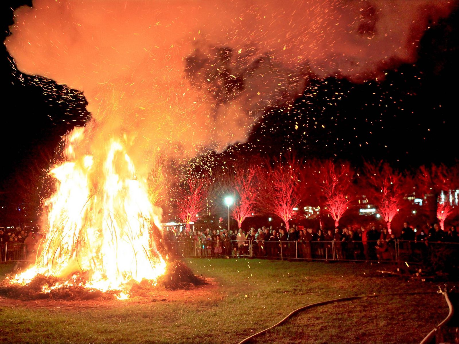
[[95, 298], [91, 300], [19, 300], [9, 297], [0, 297], [1, 307], [24, 307], [24, 308], [56, 308], [60, 310], [84, 310], [84, 309], [110, 309], [130, 305], [145, 305], [153, 302], [196, 302], [196, 300], [208, 300], [215, 297], [219, 285], [212, 279], [206, 279], [207, 284], [191, 287], [189, 289], [170, 290], [164, 287], [151, 287], [148, 293], [134, 295], [127, 300]]

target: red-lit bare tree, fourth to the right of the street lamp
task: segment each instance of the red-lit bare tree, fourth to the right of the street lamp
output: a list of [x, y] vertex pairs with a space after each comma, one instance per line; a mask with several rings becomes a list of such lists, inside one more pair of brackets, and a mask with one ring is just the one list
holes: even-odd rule
[[364, 193], [376, 205], [391, 233], [392, 219], [398, 214], [409, 193], [409, 178], [394, 170], [388, 163], [364, 165]]

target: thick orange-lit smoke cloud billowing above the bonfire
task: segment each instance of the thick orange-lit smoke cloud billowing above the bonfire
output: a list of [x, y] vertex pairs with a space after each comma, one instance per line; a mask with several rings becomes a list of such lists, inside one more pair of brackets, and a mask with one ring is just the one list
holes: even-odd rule
[[415, 61], [429, 23], [453, 5], [34, 0], [15, 11], [6, 47], [22, 72], [84, 92], [92, 119], [81, 150], [123, 138], [147, 173], [151, 152], [192, 156], [246, 140], [309, 78], [362, 82]]

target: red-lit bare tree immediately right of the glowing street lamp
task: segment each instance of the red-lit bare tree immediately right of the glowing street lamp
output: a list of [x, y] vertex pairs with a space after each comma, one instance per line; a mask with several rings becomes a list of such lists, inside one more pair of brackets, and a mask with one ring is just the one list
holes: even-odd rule
[[256, 213], [258, 187], [257, 176], [260, 170], [257, 167], [236, 168], [229, 176], [228, 187], [235, 192], [236, 203], [231, 211], [231, 216], [237, 221], [238, 228], [247, 217]]

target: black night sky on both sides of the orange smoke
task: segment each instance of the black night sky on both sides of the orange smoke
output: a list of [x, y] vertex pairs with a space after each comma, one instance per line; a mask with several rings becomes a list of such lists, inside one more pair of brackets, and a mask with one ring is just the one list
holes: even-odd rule
[[[26, 1], [1, 3], [4, 36], [12, 10]], [[400, 168], [457, 159], [458, 10], [433, 26], [421, 41], [419, 60], [387, 71], [386, 80], [355, 85], [316, 80], [288, 113], [273, 110], [254, 128], [249, 142], [224, 154], [237, 159], [286, 149], [305, 157], [337, 157], [359, 166], [384, 159]], [[2, 40], [4, 37], [2, 37]], [[27, 180], [49, 166], [60, 137], [88, 117], [84, 99], [53, 83], [54, 97], [22, 81], [5, 47], [0, 56], [3, 125], [0, 171], [2, 202], [20, 202], [32, 191]], [[67, 92], [67, 93], [66, 93]], [[69, 105], [70, 104], [70, 105]], [[296, 126], [298, 128], [296, 129]]]

